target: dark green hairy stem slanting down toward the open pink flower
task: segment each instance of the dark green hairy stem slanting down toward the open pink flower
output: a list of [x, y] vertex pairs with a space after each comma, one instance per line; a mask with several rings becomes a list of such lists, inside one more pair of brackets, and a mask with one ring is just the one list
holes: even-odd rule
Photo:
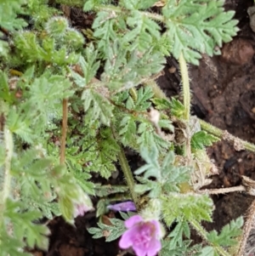
[[120, 153], [119, 153], [119, 162], [122, 167], [122, 172], [125, 176], [125, 179], [127, 181], [127, 186], [129, 188], [129, 191], [131, 193], [133, 202], [137, 205], [138, 203], [138, 196], [134, 192], [134, 179], [133, 179], [133, 174], [131, 172], [131, 169], [128, 165], [127, 158], [125, 156], [125, 153], [122, 149], [122, 146], [120, 145]]

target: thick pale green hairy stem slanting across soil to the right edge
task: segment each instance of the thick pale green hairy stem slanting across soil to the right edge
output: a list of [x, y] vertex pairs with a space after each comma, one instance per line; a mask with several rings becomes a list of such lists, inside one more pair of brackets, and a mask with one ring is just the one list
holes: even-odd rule
[[[255, 145], [247, 142], [243, 139], [239, 139], [237, 137], [235, 137], [232, 134], [229, 134], [227, 131], [223, 131], [219, 128], [214, 127], [212, 124], [207, 123], [205, 121], [199, 120], [200, 124], [201, 124], [201, 128], [205, 131], [207, 131], [209, 134], [213, 134], [221, 139], [224, 139], [228, 142], [230, 142], [231, 144], [233, 144], [234, 146], [237, 144], [240, 147], [240, 150], [246, 149], [247, 151], [252, 151], [255, 152]], [[235, 150], [238, 150], [238, 148]]]

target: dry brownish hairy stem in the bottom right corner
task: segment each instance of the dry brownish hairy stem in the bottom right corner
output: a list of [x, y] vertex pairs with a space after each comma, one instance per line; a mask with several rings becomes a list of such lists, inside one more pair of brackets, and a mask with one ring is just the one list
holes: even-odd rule
[[250, 234], [250, 231], [252, 229], [252, 222], [254, 220], [254, 217], [255, 217], [255, 200], [253, 200], [251, 206], [247, 210], [246, 222], [243, 227], [240, 247], [239, 247], [238, 253], [235, 256], [243, 256], [245, 253], [246, 242]]

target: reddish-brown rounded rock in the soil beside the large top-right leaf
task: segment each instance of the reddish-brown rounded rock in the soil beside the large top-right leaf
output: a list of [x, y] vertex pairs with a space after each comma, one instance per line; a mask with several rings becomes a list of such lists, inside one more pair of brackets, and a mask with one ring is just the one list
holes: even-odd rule
[[244, 65], [252, 60], [254, 49], [246, 39], [236, 38], [222, 48], [222, 60], [233, 65]]

